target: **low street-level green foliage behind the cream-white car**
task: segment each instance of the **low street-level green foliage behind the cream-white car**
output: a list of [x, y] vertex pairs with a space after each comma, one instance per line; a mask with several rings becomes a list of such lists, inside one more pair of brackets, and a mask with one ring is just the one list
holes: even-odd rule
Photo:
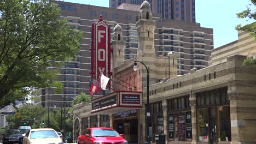
[[[69, 112], [70, 108], [64, 109], [49, 109], [48, 107], [42, 107], [39, 105], [24, 105], [16, 111], [15, 115], [8, 115], [8, 129], [18, 129], [21, 125], [24, 125], [23, 121], [26, 122], [26, 125], [31, 126], [31, 128], [53, 128], [56, 131], [61, 129], [61, 116], [62, 116], [62, 129], [66, 124], [66, 129], [72, 131], [72, 118], [66, 118], [65, 113]], [[48, 126], [48, 112], [49, 112], [49, 126]], [[65, 119], [66, 118], [66, 119]], [[65, 120], [65, 124], [64, 124]], [[44, 122], [44, 124], [43, 124]]]

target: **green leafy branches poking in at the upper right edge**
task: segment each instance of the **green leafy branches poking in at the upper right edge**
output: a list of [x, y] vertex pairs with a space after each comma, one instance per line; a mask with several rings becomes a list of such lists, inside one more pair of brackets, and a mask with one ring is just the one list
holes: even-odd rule
[[[256, 20], [256, 0], [251, 0], [251, 3], [246, 5], [246, 10], [243, 10], [240, 13], [237, 13], [236, 16], [239, 19], [247, 19], [247, 20]], [[254, 40], [256, 40], [256, 22], [247, 24], [242, 26], [242, 24], [238, 24], [236, 26], [236, 30], [249, 32], [250, 35], [253, 35]], [[256, 66], [256, 59], [246, 59], [243, 62], [244, 65], [254, 65]]]

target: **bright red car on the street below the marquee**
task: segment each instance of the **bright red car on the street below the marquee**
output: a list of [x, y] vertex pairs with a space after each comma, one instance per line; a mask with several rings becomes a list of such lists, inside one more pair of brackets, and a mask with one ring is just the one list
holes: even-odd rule
[[119, 143], [128, 144], [124, 139], [123, 134], [119, 134], [112, 128], [87, 128], [77, 137], [78, 144], [104, 144], [104, 143]]

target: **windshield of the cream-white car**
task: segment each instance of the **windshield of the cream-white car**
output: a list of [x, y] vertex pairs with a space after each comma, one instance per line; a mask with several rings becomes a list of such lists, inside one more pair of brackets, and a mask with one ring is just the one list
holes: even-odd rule
[[30, 139], [43, 139], [43, 138], [54, 138], [59, 137], [53, 130], [38, 130], [31, 131]]

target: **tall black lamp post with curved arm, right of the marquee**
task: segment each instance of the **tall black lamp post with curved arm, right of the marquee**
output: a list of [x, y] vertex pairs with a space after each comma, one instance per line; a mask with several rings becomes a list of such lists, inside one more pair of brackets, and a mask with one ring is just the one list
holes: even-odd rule
[[133, 65], [133, 70], [137, 70], [137, 63], [139, 62], [141, 64], [143, 64], [145, 66], [145, 68], [147, 69], [147, 107], [146, 107], [146, 143], [150, 143], [150, 137], [149, 137], [149, 121], [150, 121], [150, 112], [149, 112], [149, 71], [147, 66], [140, 61], [134, 61], [134, 65]]

